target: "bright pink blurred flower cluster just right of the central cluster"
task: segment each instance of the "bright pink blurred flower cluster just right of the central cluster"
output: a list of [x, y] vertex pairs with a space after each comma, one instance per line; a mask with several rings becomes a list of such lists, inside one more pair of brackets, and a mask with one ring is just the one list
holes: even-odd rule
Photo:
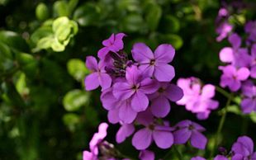
[[215, 86], [211, 84], [202, 85], [198, 78], [179, 78], [178, 87], [183, 89], [184, 96], [177, 101], [178, 105], [185, 105], [187, 111], [197, 114], [199, 120], [205, 120], [216, 110], [219, 102], [212, 100], [215, 96]]

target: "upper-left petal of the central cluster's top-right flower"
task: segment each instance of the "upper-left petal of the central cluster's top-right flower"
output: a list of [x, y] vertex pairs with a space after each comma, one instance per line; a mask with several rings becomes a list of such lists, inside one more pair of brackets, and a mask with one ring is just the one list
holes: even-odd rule
[[151, 49], [144, 43], [136, 43], [131, 50], [133, 59], [140, 64], [150, 63], [154, 59], [154, 54]]

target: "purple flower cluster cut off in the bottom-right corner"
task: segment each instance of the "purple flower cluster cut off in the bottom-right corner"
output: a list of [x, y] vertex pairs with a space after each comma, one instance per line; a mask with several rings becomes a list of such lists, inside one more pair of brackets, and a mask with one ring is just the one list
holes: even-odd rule
[[[232, 145], [231, 151], [227, 152], [225, 148], [221, 148], [221, 154], [217, 155], [214, 160], [255, 160], [256, 152], [254, 152], [254, 142], [248, 136], [240, 136]], [[199, 156], [191, 160], [206, 160]]]

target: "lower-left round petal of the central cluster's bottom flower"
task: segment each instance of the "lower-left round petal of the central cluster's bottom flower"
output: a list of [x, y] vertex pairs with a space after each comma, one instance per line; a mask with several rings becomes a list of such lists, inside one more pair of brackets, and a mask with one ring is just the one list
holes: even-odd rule
[[152, 143], [152, 131], [145, 128], [138, 130], [132, 140], [132, 145], [138, 150], [144, 150]]

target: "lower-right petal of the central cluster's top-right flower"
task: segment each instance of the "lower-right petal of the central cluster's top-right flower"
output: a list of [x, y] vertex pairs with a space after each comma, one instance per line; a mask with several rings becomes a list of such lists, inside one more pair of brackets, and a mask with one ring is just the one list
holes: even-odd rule
[[169, 64], [156, 64], [154, 69], [154, 77], [159, 82], [170, 82], [175, 76], [173, 66]]

